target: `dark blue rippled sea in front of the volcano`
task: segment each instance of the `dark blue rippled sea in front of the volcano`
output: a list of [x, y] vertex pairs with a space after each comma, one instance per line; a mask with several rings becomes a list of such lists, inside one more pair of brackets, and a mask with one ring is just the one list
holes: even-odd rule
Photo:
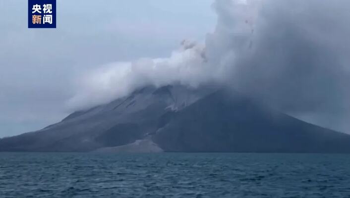
[[349, 198], [350, 155], [0, 153], [0, 198]]

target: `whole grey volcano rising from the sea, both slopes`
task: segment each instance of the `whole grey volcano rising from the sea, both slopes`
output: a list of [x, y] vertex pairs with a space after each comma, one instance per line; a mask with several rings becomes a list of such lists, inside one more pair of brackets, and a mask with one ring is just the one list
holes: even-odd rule
[[0, 139], [0, 151], [350, 152], [350, 135], [218, 87], [145, 87]]

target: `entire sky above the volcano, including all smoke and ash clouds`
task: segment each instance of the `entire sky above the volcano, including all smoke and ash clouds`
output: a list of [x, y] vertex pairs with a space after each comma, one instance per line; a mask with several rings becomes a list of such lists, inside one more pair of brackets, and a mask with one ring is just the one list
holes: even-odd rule
[[57, 1], [57, 29], [0, 1], [0, 137], [142, 86], [213, 82], [350, 133], [349, 0]]

